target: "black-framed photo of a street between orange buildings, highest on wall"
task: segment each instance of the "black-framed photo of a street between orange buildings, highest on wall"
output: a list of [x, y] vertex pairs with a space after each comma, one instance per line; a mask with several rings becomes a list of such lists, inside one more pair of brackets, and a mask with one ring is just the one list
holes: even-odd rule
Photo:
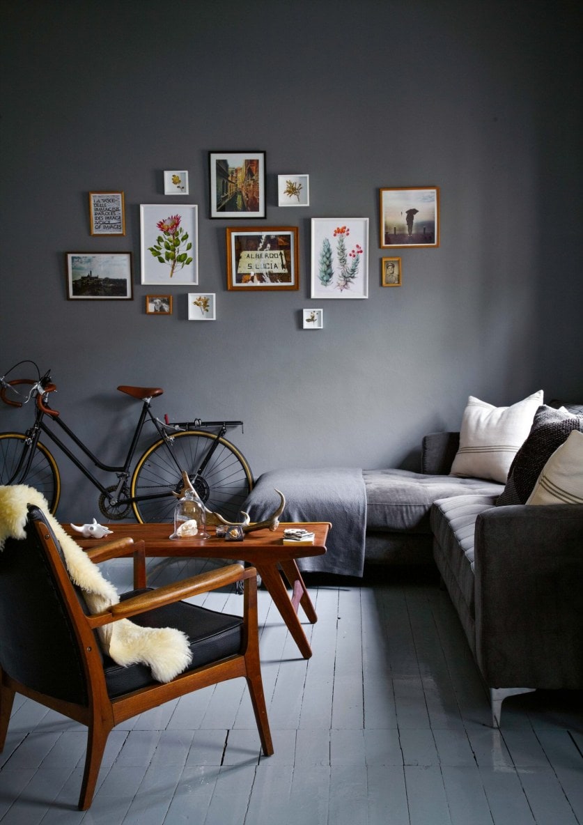
[[211, 218], [265, 218], [266, 153], [209, 152]]

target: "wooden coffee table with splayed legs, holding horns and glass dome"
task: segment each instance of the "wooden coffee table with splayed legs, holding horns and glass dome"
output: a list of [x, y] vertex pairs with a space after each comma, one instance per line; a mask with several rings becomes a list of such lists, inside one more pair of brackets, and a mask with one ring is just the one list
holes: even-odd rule
[[[261, 576], [262, 582], [270, 592], [275, 606], [288, 626], [289, 633], [299, 647], [303, 658], [310, 658], [312, 648], [298, 617], [301, 605], [306, 618], [311, 624], [317, 621], [316, 611], [308, 590], [303, 582], [295, 559], [317, 556], [326, 553], [326, 539], [331, 524], [328, 521], [309, 523], [281, 522], [277, 530], [256, 530], [247, 533], [242, 541], [225, 541], [211, 535], [209, 539], [185, 538], [171, 539], [172, 524], [108, 524], [110, 535], [105, 539], [83, 539], [68, 525], [63, 525], [68, 534], [73, 536], [81, 547], [95, 547], [100, 541], [113, 540], [122, 536], [131, 536], [134, 541], [143, 541], [147, 556], [200, 557], [202, 559], [237, 559], [253, 565]], [[283, 533], [286, 527], [303, 527], [314, 533], [313, 544], [284, 544]], [[214, 528], [209, 527], [212, 534]], [[280, 570], [292, 588], [291, 597], [284, 585]], [[134, 582], [134, 587], [139, 583]], [[143, 583], [141, 584], [143, 586]]]

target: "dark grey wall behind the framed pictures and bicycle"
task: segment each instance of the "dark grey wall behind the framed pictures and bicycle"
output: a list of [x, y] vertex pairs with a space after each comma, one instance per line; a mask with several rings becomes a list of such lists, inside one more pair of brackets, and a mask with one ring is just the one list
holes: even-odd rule
[[[161, 385], [172, 417], [241, 417], [256, 474], [416, 464], [468, 394], [581, 400], [581, 92], [575, 2], [77, 0], [2, 3], [2, 356], [53, 369], [56, 405], [112, 460]], [[267, 219], [299, 226], [299, 292], [227, 292], [207, 153], [258, 148]], [[199, 205], [218, 320], [144, 311], [139, 204]], [[277, 206], [278, 173], [311, 203]], [[440, 186], [441, 245], [380, 286], [378, 189]], [[87, 192], [123, 190], [125, 238], [92, 238]], [[369, 299], [309, 298], [310, 218], [368, 216]], [[238, 225], [244, 225], [240, 222]], [[134, 253], [133, 302], [68, 302], [63, 253]], [[323, 305], [325, 328], [301, 309]], [[30, 411], [0, 410], [0, 429]], [[66, 469], [66, 468], [63, 468]], [[65, 473], [63, 519], [96, 514]], [[82, 511], [82, 512], [80, 512]]]

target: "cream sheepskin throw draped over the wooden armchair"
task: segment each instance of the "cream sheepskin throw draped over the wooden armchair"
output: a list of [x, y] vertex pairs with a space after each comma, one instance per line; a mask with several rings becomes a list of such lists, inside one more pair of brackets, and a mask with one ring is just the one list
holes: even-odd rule
[[[0, 550], [7, 538], [25, 538], [28, 504], [34, 504], [45, 513], [63, 549], [69, 577], [82, 589], [89, 610], [97, 613], [117, 604], [120, 598], [115, 587], [49, 514], [45, 497], [34, 488], [24, 484], [0, 487]], [[172, 681], [192, 658], [188, 637], [173, 628], [139, 627], [128, 619], [120, 619], [99, 628], [98, 632], [102, 647], [114, 662], [124, 667], [138, 662], [148, 665], [156, 681]]]

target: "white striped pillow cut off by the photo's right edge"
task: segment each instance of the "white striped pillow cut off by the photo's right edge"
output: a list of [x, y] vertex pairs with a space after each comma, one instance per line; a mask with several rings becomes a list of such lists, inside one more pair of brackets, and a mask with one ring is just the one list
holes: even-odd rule
[[541, 470], [527, 504], [583, 504], [583, 432], [573, 430]]

